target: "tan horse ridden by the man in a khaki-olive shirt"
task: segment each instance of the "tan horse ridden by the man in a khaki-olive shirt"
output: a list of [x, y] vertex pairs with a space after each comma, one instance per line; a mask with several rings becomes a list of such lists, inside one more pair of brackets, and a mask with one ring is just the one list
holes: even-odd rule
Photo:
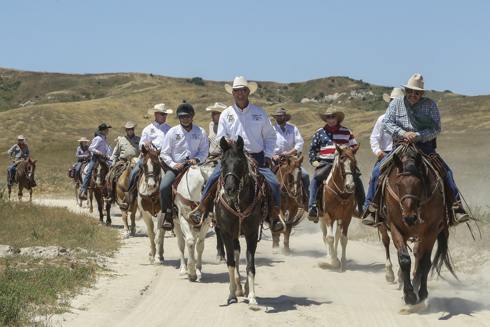
[[[138, 162], [138, 158], [130, 158], [126, 163], [124, 163], [123, 173], [117, 177], [116, 189], [113, 190], [116, 197], [116, 202], [122, 203], [124, 202], [124, 192], [127, 191], [127, 185], [129, 184], [129, 174], [131, 174], [131, 170], [134, 168], [136, 163]], [[116, 166], [114, 167], [116, 168]], [[111, 170], [112, 172], [112, 170]], [[109, 172], [109, 174], [111, 174]], [[134, 236], [136, 233], [136, 209], [138, 208], [138, 203], [136, 201], [132, 201], [129, 203], [129, 207], [127, 210], [121, 209], [123, 214], [123, 224], [124, 224], [124, 235], [123, 238], [129, 238], [129, 236]], [[127, 222], [127, 213], [131, 212], [129, 218], [131, 219], [131, 228], [128, 226]]]

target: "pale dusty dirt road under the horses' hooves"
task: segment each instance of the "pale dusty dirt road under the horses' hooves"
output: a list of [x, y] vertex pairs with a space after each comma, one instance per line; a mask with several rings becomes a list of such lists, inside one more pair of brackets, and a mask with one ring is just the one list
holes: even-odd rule
[[[76, 209], [74, 200], [36, 202], [88, 212]], [[115, 207], [113, 211], [117, 211], [113, 226], [121, 227], [121, 213]], [[52, 325], [490, 326], [488, 283], [482, 286], [472, 281], [481, 278], [481, 273], [459, 274], [460, 282], [449, 273], [445, 274], [447, 281], [434, 277], [428, 283], [429, 307], [401, 315], [403, 294], [397, 284], [385, 281], [381, 243], [349, 241], [347, 271], [332, 271], [325, 268], [325, 262], [330, 261], [319, 226], [308, 221], [291, 236], [292, 256], [273, 251], [268, 232], [258, 244], [255, 292], [259, 309], [251, 310], [244, 298], [227, 305], [228, 270], [216, 258], [214, 231], [210, 230], [206, 239], [203, 278], [190, 282], [179, 276], [176, 238], [165, 237], [165, 261], [161, 266], [150, 265], [146, 226], [143, 220], [136, 223], [137, 235], [125, 240], [121, 252], [109, 260], [112, 272], [73, 300], [73, 313], [53, 316]], [[364, 228], [357, 220], [353, 225], [354, 233]], [[243, 248], [245, 240], [241, 243]], [[397, 271], [396, 259], [393, 265]], [[241, 274], [245, 281], [244, 255]]]

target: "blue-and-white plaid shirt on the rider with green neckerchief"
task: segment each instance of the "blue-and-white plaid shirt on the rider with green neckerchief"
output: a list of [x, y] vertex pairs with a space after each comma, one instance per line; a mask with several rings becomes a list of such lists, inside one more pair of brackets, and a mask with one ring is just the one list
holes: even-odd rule
[[405, 97], [394, 98], [390, 102], [386, 110], [385, 118], [383, 118], [383, 130], [392, 135], [393, 139], [398, 141], [403, 139], [403, 133], [415, 132], [418, 142], [428, 142], [435, 139], [441, 130], [423, 129], [420, 130], [414, 124], [411, 115], [427, 115], [430, 116], [436, 124], [441, 126], [441, 115], [439, 108], [434, 100], [429, 98], [420, 98], [420, 106], [416, 112], [411, 111], [411, 108], [405, 106], [403, 101]]

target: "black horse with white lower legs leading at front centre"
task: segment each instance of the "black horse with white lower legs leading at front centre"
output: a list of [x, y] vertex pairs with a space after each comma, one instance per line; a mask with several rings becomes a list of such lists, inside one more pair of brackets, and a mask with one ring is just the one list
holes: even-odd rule
[[[245, 296], [249, 305], [256, 305], [255, 297], [255, 250], [259, 239], [259, 227], [271, 210], [267, 203], [266, 181], [259, 182], [259, 171], [244, 151], [241, 136], [235, 143], [228, 144], [223, 137], [220, 141], [222, 176], [218, 182], [215, 213], [220, 226], [221, 238], [226, 249], [226, 264], [230, 276], [228, 304], [237, 303], [243, 296], [240, 280], [240, 235], [246, 241]], [[266, 220], [267, 222], [267, 220]], [[286, 226], [293, 226], [286, 222]], [[294, 226], [293, 226], [294, 227]]]

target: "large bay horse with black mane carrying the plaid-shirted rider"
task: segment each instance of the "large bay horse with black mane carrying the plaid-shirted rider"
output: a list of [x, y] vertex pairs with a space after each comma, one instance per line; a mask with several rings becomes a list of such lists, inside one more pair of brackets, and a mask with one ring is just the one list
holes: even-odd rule
[[[449, 233], [445, 219], [444, 186], [441, 177], [417, 151], [408, 151], [401, 159], [393, 154], [393, 163], [395, 167], [389, 173], [385, 186], [386, 226], [398, 251], [405, 303], [415, 304], [417, 295], [414, 287], [418, 287], [419, 301], [428, 297], [427, 276], [431, 267], [432, 273], [437, 272], [440, 276], [444, 264], [456, 277], [447, 246]], [[431, 262], [436, 240], [438, 247]], [[412, 263], [407, 241], [415, 242], [414, 285], [410, 278]]]

